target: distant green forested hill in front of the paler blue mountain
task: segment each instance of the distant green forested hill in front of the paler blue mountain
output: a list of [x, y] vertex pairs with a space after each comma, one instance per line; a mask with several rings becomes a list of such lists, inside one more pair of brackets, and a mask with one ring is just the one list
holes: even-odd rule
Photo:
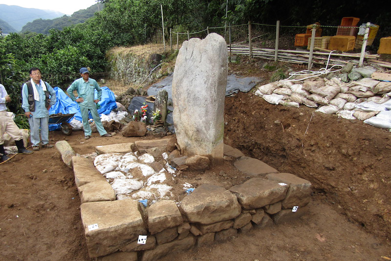
[[86, 22], [86, 20], [90, 17], [94, 16], [95, 12], [102, 10], [104, 8], [104, 4], [97, 3], [91, 5], [87, 9], [82, 9], [77, 12], [74, 12], [71, 16], [64, 15], [63, 17], [55, 18], [55, 19], [37, 19], [33, 22], [27, 23], [22, 28], [23, 32], [36, 32], [42, 34], [48, 34], [50, 29], [58, 29], [62, 30], [66, 26], [70, 26], [73, 24], [82, 24]]

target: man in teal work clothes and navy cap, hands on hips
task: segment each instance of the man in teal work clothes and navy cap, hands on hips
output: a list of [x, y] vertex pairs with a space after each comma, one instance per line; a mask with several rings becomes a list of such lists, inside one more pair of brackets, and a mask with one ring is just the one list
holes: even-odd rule
[[[102, 89], [99, 84], [89, 78], [89, 71], [83, 67], [80, 69], [80, 75], [82, 78], [75, 80], [69, 88], [66, 90], [68, 95], [73, 101], [77, 101], [80, 106], [80, 112], [82, 114], [83, 126], [84, 126], [84, 138], [88, 140], [91, 138], [91, 127], [88, 122], [88, 112], [91, 113], [92, 119], [95, 121], [96, 128], [102, 137], [111, 137], [111, 134], [107, 133], [103, 127], [101, 118], [99, 117], [96, 104], [102, 98]], [[94, 99], [94, 90], [98, 91], [97, 99]], [[78, 97], [76, 98], [73, 91], [77, 92]]]

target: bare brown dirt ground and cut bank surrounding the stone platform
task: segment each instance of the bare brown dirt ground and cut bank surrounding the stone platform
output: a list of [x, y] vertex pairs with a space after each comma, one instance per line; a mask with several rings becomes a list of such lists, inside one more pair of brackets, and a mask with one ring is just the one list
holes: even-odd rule
[[[243, 59], [230, 73], [260, 76], [264, 61]], [[303, 69], [292, 69], [300, 71]], [[281, 172], [309, 180], [310, 212], [291, 223], [238, 234], [228, 241], [175, 253], [162, 261], [384, 261], [391, 257], [391, 133], [361, 121], [287, 108], [253, 92], [225, 99], [224, 142]], [[155, 139], [147, 136], [143, 139]], [[117, 134], [50, 132], [79, 154], [95, 146], [132, 142]], [[224, 171], [226, 176], [220, 176]], [[227, 165], [205, 173], [183, 172], [195, 185], [229, 187], [246, 177]], [[236, 178], [235, 178], [236, 177]], [[0, 260], [89, 261], [73, 171], [56, 148], [17, 155], [0, 165]]]

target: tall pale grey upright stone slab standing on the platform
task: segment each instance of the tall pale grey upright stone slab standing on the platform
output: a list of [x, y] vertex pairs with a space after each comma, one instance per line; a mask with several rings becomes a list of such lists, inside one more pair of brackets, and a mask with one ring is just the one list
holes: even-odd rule
[[174, 127], [182, 153], [223, 161], [224, 98], [228, 54], [223, 37], [185, 41], [173, 79]]

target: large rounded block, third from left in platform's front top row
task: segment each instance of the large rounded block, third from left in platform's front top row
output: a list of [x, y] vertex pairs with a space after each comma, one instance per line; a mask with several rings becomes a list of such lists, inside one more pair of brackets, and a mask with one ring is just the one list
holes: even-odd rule
[[179, 208], [190, 222], [204, 225], [235, 218], [241, 212], [234, 194], [211, 184], [202, 184], [185, 196]]

